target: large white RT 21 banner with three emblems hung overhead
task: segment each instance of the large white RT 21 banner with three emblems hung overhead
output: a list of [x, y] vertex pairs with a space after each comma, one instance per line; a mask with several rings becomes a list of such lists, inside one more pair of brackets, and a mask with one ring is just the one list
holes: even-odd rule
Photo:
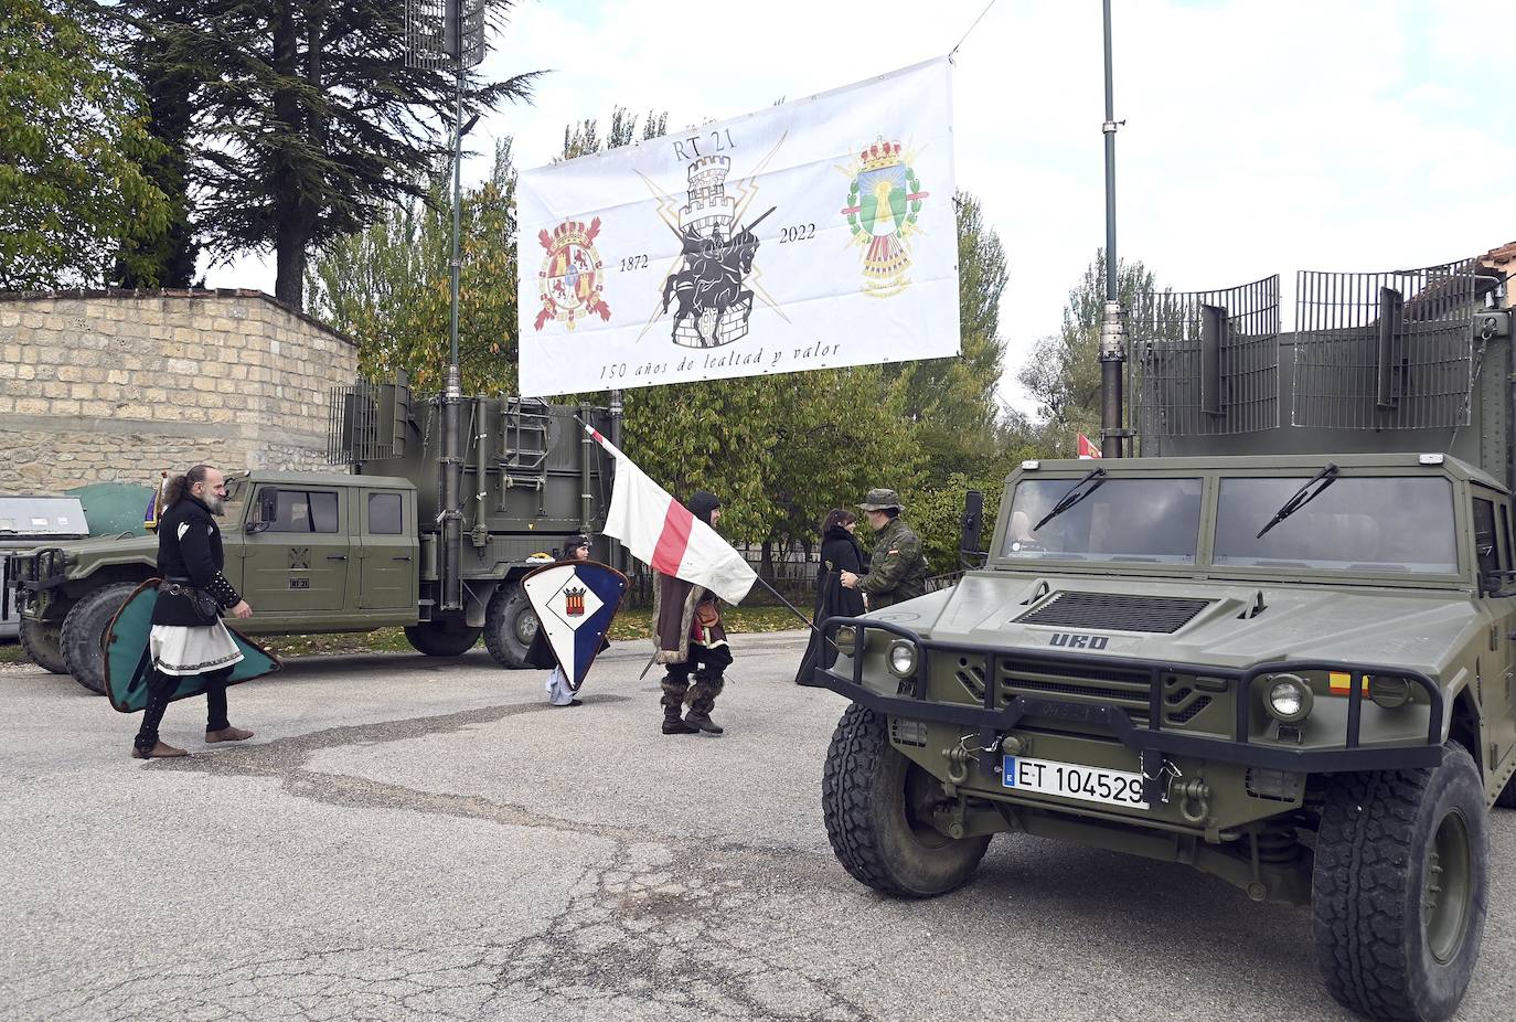
[[522, 173], [520, 393], [957, 355], [951, 67]]

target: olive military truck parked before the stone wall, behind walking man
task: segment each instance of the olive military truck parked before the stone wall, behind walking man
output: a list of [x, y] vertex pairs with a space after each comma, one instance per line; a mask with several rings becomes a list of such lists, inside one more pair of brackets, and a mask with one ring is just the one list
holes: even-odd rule
[[[240, 631], [399, 625], [428, 657], [456, 657], [482, 635], [502, 666], [525, 666], [537, 617], [518, 582], [603, 520], [608, 459], [576, 417], [612, 432], [609, 412], [517, 397], [461, 403], [452, 516], [443, 399], [415, 397], [403, 379], [334, 393], [327, 453], [347, 473], [227, 472], [224, 570], [255, 611]], [[14, 555], [23, 620], [45, 640], [33, 641], [38, 663], [103, 691], [105, 631], [156, 573], [156, 537], [127, 535]]]

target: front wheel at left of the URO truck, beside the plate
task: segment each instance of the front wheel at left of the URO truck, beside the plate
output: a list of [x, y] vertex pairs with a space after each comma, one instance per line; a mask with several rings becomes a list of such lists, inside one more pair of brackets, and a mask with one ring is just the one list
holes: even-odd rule
[[951, 839], [931, 823], [941, 784], [890, 745], [882, 714], [847, 707], [822, 773], [832, 852], [855, 879], [887, 895], [931, 898], [963, 884], [990, 835]]

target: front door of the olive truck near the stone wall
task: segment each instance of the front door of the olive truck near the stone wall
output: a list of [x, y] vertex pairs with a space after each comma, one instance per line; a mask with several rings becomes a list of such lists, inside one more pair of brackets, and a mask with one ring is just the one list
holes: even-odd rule
[[267, 528], [247, 537], [244, 588], [255, 611], [340, 611], [352, 553], [346, 502], [337, 487], [261, 487]]

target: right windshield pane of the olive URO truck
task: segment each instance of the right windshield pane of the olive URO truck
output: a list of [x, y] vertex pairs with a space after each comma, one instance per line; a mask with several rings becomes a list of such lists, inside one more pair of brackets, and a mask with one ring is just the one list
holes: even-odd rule
[[1258, 529], [1307, 479], [1222, 479], [1214, 563], [1339, 572], [1458, 570], [1452, 484], [1434, 476], [1339, 476], [1260, 538]]

